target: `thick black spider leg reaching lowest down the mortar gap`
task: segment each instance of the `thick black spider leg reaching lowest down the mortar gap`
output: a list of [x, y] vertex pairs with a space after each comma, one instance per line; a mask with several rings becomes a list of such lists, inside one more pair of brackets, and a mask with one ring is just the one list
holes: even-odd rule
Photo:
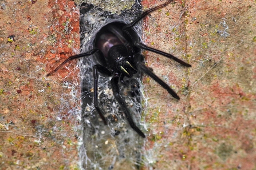
[[131, 112], [129, 111], [128, 107], [126, 106], [124, 99], [120, 95], [118, 82], [119, 82], [119, 74], [116, 73], [113, 76], [113, 78], [111, 79], [111, 88], [112, 88], [113, 94], [115, 96], [115, 99], [117, 100], [117, 102], [120, 104], [122, 110], [124, 111], [125, 117], [127, 118], [131, 128], [135, 132], [137, 132], [141, 137], [144, 138], [145, 137], [144, 133], [141, 132], [141, 130], [136, 126], [135, 122], [133, 122]]

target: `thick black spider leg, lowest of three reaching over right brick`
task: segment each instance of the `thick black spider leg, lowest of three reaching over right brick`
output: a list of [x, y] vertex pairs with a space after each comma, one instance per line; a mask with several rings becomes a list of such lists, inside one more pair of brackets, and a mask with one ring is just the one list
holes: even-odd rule
[[155, 80], [160, 86], [162, 86], [164, 89], [168, 91], [170, 95], [172, 95], [175, 99], [180, 99], [179, 96], [176, 94], [174, 90], [172, 90], [168, 84], [164, 83], [163, 80], [161, 80], [157, 75], [153, 74], [153, 72], [145, 66], [143, 62], [140, 61], [140, 59], [143, 58], [141, 54], [136, 54], [135, 59], [136, 59], [136, 67], [143, 71], [145, 74], [149, 75], [153, 80]]

